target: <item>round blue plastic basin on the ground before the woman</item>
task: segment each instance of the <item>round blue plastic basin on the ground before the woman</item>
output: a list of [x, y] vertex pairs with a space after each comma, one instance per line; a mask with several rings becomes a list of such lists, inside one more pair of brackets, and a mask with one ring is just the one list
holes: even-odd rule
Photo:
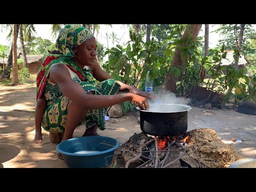
[[70, 168], [101, 168], [111, 163], [119, 145], [114, 138], [88, 136], [63, 141], [56, 149]]

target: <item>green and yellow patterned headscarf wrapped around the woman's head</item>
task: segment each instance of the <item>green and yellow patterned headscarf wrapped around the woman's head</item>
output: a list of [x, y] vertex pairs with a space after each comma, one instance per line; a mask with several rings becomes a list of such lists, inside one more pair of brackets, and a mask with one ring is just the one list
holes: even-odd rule
[[84, 41], [91, 37], [93, 37], [92, 32], [81, 25], [66, 25], [60, 30], [55, 47], [65, 55], [73, 57], [74, 47], [81, 45]]

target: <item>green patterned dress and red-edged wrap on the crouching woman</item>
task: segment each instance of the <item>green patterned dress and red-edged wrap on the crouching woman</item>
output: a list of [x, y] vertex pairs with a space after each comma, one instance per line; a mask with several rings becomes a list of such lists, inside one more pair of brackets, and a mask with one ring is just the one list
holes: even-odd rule
[[[57, 57], [58, 56], [58, 57]], [[50, 58], [51, 60], [50, 60]], [[48, 60], [47, 60], [48, 58]], [[50, 62], [49, 62], [50, 61]], [[46, 63], [46, 70], [44, 66]], [[44, 63], [41, 69], [38, 71], [37, 81], [37, 99], [43, 94], [47, 101], [47, 106], [43, 115], [42, 127], [44, 130], [52, 133], [62, 133], [65, 131], [67, 122], [67, 106], [69, 99], [63, 95], [58, 84], [54, 84], [47, 78], [49, 76], [50, 68], [57, 63], [62, 63], [69, 70], [70, 76], [73, 81], [79, 83], [85, 92], [92, 91], [93, 94], [101, 95], [114, 95], [116, 94], [121, 85], [114, 79], [108, 79], [94, 85], [91, 70], [85, 66], [82, 70], [76, 63], [69, 57], [59, 57], [59, 55], [46, 54], [44, 57]], [[44, 74], [40, 74], [40, 71], [44, 70]], [[98, 125], [100, 130], [105, 129], [105, 115], [107, 114], [109, 107], [102, 109], [91, 109], [86, 116], [79, 122], [79, 125], [85, 124], [86, 129], [89, 129], [93, 125]]]

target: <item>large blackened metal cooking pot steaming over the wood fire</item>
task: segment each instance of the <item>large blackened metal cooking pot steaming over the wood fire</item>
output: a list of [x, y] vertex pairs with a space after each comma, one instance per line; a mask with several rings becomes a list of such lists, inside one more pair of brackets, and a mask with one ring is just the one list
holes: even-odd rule
[[190, 109], [183, 104], [151, 104], [148, 111], [140, 110], [140, 129], [161, 137], [181, 135], [187, 132]]

